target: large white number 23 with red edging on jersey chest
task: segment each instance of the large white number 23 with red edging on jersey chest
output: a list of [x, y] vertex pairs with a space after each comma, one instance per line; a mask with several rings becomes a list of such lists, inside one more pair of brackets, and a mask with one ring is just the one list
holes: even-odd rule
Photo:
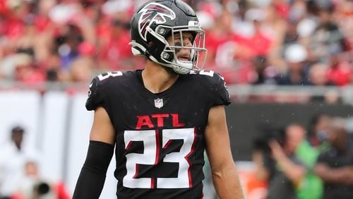
[[[126, 176], [123, 186], [128, 188], [154, 188], [154, 179], [138, 178], [138, 164], [157, 164], [161, 147], [157, 145], [158, 131], [125, 131], [124, 142], [126, 149], [133, 141], [143, 141], [143, 154], [129, 153], [126, 155]], [[167, 147], [170, 140], [184, 140], [179, 152], [167, 154], [162, 162], [179, 163], [177, 178], [157, 178], [157, 188], [189, 188], [191, 187], [191, 174], [188, 157], [192, 152], [195, 140], [194, 128], [165, 129], [162, 131], [162, 147]], [[157, 152], [158, 151], [158, 152]]]

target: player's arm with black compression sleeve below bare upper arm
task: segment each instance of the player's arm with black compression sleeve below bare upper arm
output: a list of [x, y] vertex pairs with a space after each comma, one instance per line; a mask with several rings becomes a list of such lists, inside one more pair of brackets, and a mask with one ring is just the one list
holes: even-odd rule
[[87, 157], [78, 177], [73, 198], [99, 198], [114, 153], [115, 138], [114, 127], [107, 111], [97, 107]]

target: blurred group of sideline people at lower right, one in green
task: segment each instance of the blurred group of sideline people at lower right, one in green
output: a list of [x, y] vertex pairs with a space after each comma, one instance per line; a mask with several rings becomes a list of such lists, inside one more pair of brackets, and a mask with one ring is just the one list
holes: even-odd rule
[[313, 116], [309, 128], [268, 128], [254, 141], [253, 162], [264, 198], [353, 198], [353, 129], [349, 120]]

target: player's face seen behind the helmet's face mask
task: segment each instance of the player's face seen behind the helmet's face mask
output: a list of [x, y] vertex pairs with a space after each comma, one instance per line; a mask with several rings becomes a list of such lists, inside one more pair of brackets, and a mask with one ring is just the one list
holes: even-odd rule
[[[182, 35], [175, 34], [174, 41], [173, 37], [168, 37], [169, 45], [176, 47], [192, 47], [192, 40], [193, 35], [190, 32], [183, 32]], [[176, 48], [175, 54], [180, 61], [191, 61], [191, 49]]]

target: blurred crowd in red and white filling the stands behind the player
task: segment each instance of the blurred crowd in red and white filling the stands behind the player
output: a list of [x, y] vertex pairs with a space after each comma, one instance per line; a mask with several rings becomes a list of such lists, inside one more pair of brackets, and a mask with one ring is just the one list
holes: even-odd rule
[[[87, 83], [144, 67], [129, 22], [145, 0], [0, 1], [0, 80]], [[187, 1], [206, 30], [205, 69], [229, 84], [353, 83], [352, 0]]]

